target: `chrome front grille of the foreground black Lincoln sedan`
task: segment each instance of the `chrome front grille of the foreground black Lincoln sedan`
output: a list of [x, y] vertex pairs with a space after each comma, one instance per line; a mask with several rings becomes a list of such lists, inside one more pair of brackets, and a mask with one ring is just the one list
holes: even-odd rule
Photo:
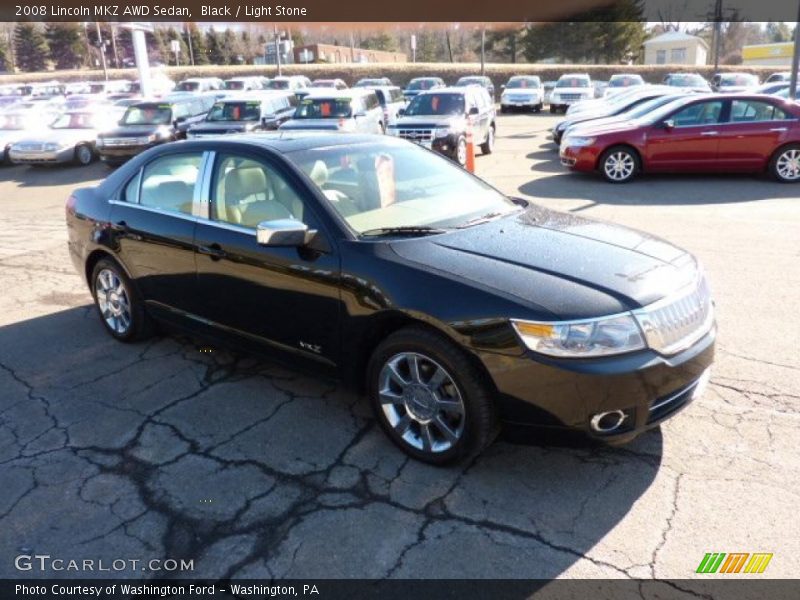
[[674, 298], [634, 311], [647, 344], [661, 354], [688, 348], [714, 324], [711, 291], [705, 277]]

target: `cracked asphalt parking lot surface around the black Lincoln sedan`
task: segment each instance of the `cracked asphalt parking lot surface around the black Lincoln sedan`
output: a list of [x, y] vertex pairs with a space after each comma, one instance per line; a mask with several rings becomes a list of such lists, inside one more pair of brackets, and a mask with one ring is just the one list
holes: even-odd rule
[[28, 553], [189, 558], [200, 577], [686, 578], [713, 551], [794, 576], [800, 187], [607, 184], [561, 167], [556, 119], [498, 116], [478, 174], [694, 252], [717, 301], [711, 386], [620, 449], [500, 441], [449, 469], [406, 459], [335, 382], [181, 336], [114, 342], [63, 225], [106, 168], [3, 167], [0, 575], [39, 575], [15, 569]]

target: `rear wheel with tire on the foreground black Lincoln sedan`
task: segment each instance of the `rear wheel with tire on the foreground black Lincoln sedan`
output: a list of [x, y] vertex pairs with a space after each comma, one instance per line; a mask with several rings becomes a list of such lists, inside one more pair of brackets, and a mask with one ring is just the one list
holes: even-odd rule
[[91, 277], [100, 321], [112, 337], [121, 342], [137, 342], [152, 334], [153, 324], [144, 310], [144, 302], [116, 262], [100, 259]]

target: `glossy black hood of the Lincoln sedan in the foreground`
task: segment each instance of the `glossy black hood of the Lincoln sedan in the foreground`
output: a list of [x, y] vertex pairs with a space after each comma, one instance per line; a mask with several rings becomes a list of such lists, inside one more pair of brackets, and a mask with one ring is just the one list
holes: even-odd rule
[[698, 269], [691, 254], [647, 233], [538, 206], [392, 248], [561, 319], [651, 304], [690, 284]]

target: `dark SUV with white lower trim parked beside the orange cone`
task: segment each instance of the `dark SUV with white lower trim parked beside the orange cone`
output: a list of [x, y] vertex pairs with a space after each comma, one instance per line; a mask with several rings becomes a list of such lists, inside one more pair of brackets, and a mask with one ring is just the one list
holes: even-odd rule
[[464, 165], [467, 131], [472, 130], [481, 152], [494, 149], [496, 113], [494, 102], [479, 86], [441, 88], [422, 92], [399, 113], [386, 133], [440, 152]]

